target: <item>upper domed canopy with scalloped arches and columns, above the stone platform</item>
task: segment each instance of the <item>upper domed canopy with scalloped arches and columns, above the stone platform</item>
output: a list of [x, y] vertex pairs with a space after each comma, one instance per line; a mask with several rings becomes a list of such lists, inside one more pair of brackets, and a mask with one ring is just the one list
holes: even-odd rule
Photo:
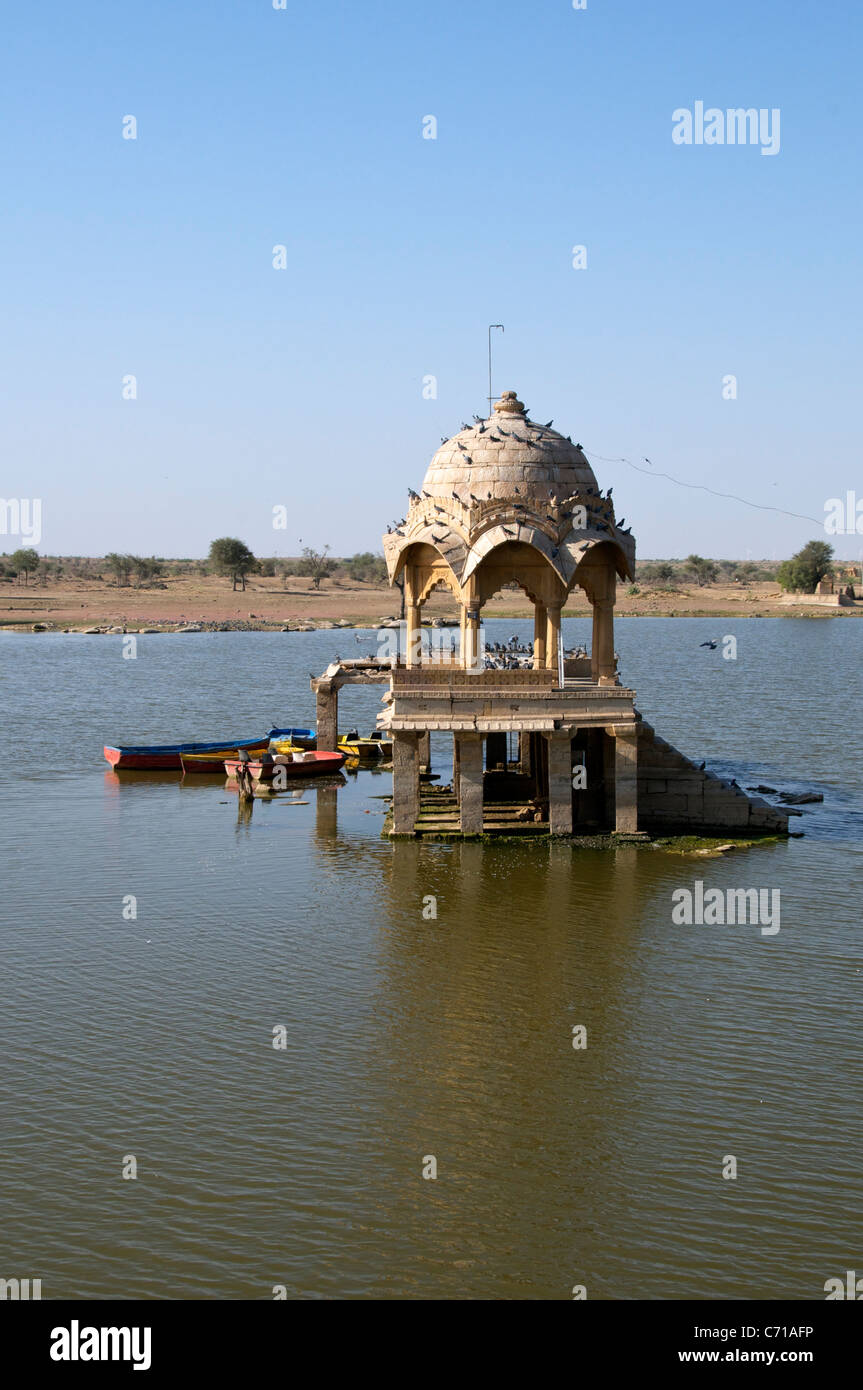
[[617, 577], [634, 575], [635, 541], [616, 525], [581, 445], [529, 420], [514, 391], [438, 449], [422, 491], [410, 493], [404, 530], [384, 537], [384, 555], [391, 582], [404, 580], [409, 666], [420, 660], [432, 589], [445, 585], [459, 602], [470, 667], [482, 605], [516, 582], [534, 605], [534, 667], [557, 670], [560, 610], [578, 585], [593, 606], [593, 680], [617, 682], [614, 592]]

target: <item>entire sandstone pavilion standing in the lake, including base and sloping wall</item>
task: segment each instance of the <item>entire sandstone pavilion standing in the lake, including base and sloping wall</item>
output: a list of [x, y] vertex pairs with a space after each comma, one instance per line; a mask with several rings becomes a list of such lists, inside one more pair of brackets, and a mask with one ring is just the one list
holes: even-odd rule
[[[386, 682], [378, 726], [392, 734], [395, 838], [787, 831], [785, 812], [659, 738], [621, 685], [614, 595], [634, 577], [635, 541], [581, 445], [531, 420], [514, 391], [474, 420], [443, 441], [384, 537], [391, 582], [404, 587], [397, 653], [336, 659], [311, 681], [318, 748], [335, 748], [343, 685]], [[527, 648], [484, 638], [484, 605], [513, 584], [534, 605]], [[439, 587], [459, 606], [457, 648], [422, 641], [422, 605]], [[561, 642], [577, 587], [593, 610], [589, 655]], [[442, 733], [453, 784], [436, 791], [422, 778]]]

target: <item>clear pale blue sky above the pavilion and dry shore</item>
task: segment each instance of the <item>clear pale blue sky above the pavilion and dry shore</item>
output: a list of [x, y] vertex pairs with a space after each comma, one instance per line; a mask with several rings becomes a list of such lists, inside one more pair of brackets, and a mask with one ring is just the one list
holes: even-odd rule
[[[862, 17], [14, 6], [0, 493], [43, 499], [44, 553], [204, 555], [225, 534], [260, 555], [378, 549], [439, 436], [484, 409], [502, 321], [495, 389], [588, 452], [814, 518], [863, 499]], [[780, 153], [674, 145], [671, 113], [698, 100], [778, 107]], [[781, 557], [823, 535], [596, 471], [642, 556]], [[835, 545], [856, 557], [863, 538]]]

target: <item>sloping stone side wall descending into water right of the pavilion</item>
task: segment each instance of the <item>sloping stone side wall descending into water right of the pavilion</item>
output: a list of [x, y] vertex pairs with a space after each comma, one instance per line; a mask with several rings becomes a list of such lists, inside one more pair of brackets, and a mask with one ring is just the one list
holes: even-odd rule
[[652, 833], [788, 831], [788, 815], [760, 796], [748, 796], [714, 773], [702, 771], [660, 738], [645, 719], [638, 724], [638, 826]]

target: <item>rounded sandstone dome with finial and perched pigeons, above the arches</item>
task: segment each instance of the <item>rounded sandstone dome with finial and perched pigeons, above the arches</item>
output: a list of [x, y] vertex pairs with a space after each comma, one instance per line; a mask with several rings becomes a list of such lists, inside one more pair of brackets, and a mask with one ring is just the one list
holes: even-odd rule
[[471, 493], [548, 500], [588, 489], [596, 489], [596, 478], [581, 446], [529, 420], [514, 391], [503, 392], [488, 420], [441, 445], [422, 484], [435, 498], [454, 492], [466, 503]]

